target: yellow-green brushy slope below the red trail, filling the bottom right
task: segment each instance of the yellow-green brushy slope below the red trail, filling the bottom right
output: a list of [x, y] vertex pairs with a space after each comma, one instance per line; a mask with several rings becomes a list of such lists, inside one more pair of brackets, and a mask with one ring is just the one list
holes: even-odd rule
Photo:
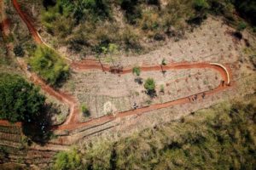
[[[70, 169], [252, 169], [256, 166], [256, 102], [222, 103], [183, 122], [144, 130], [118, 142], [99, 140], [55, 167]], [[62, 153], [63, 154], [63, 153]], [[63, 161], [67, 160], [67, 161]], [[67, 163], [68, 162], [68, 163]], [[78, 161], [75, 161], [78, 162]], [[73, 163], [73, 162], [71, 162]], [[66, 169], [60, 168], [60, 169]]]

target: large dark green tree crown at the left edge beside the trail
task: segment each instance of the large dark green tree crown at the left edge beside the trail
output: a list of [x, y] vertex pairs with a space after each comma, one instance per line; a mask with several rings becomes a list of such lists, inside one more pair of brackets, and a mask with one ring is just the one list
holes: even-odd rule
[[43, 106], [38, 88], [20, 76], [0, 73], [0, 119], [32, 122]]

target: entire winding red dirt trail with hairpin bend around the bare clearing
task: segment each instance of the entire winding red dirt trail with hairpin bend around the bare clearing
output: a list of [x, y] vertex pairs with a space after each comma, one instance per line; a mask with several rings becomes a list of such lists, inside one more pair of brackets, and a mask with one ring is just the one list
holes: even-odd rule
[[[14, 7], [18, 14], [20, 15], [20, 18], [26, 23], [26, 26], [28, 27], [29, 31], [32, 33], [32, 37], [34, 38], [35, 42], [38, 42], [39, 44], [44, 43], [42, 38], [39, 36], [38, 31], [32, 26], [32, 23], [30, 20], [27, 19], [26, 14], [24, 14], [20, 10], [20, 5], [17, 3], [16, 0], [13, 0]], [[44, 43], [45, 44], [45, 43]], [[26, 62], [24, 60], [20, 59], [18, 60], [21, 67], [24, 71], [26, 71]], [[85, 59], [81, 62], [72, 62], [71, 68], [75, 71], [87, 71], [87, 70], [101, 70], [101, 71], [110, 71], [112, 72], [110, 65], [101, 65], [99, 62], [97, 62], [94, 59]], [[218, 63], [171, 63], [168, 65], [142, 65], [141, 70], [142, 71], [170, 71], [170, 70], [184, 70], [184, 69], [212, 69], [214, 71], [218, 71], [220, 76], [222, 77], [222, 80], [224, 83], [220, 83], [217, 88], [214, 88], [212, 90], [201, 92], [199, 94], [193, 94], [189, 95], [187, 97], [176, 99], [173, 101], [169, 101], [162, 104], [155, 104], [155, 105], [149, 105], [145, 107], [138, 108], [137, 110], [130, 110], [130, 111], [122, 111], [119, 113], [116, 113], [115, 116], [109, 115], [109, 116], [102, 116], [99, 118], [91, 119], [87, 122], [79, 122], [79, 103], [77, 99], [74, 99], [73, 96], [70, 94], [57, 91], [54, 88], [49, 87], [41, 78], [39, 78], [36, 74], [31, 73], [29, 71], [26, 71], [26, 75], [30, 77], [32, 82], [35, 84], [38, 84], [41, 86], [41, 88], [44, 90], [45, 93], [55, 97], [55, 99], [60, 100], [61, 102], [64, 102], [65, 104], [69, 105], [70, 108], [70, 114], [67, 117], [66, 122], [59, 126], [53, 126], [51, 127], [52, 130], [73, 130], [79, 127], [89, 126], [89, 125], [96, 125], [97, 123], [102, 122], [108, 122], [116, 118], [122, 118], [125, 116], [131, 116], [131, 115], [141, 115], [143, 113], [146, 113], [148, 111], [154, 111], [159, 110], [162, 108], [170, 107], [172, 105], [182, 105], [186, 103], [191, 103], [190, 98], [194, 97], [195, 95], [201, 96], [202, 94], [205, 94], [206, 96], [210, 96], [212, 94], [216, 94], [220, 91], [223, 91], [226, 88], [230, 87], [230, 68], [227, 65], [220, 65]], [[129, 74], [132, 72], [132, 68], [124, 68], [122, 69], [119, 74]], [[0, 120], [0, 124], [6, 124], [5, 121]], [[17, 123], [19, 125], [19, 123]]]

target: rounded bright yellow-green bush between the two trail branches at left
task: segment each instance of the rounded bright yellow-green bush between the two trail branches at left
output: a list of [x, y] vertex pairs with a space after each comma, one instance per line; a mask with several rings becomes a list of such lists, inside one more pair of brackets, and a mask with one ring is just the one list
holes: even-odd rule
[[69, 74], [68, 65], [51, 48], [38, 46], [34, 56], [29, 60], [32, 71], [38, 73], [50, 85], [57, 86], [65, 81]]

